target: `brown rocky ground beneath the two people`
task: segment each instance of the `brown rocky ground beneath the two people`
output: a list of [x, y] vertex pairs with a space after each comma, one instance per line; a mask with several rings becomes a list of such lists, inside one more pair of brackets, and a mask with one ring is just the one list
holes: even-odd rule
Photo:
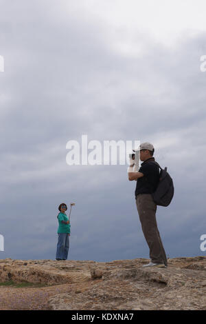
[[0, 260], [0, 310], [206, 310], [206, 256], [145, 263]]

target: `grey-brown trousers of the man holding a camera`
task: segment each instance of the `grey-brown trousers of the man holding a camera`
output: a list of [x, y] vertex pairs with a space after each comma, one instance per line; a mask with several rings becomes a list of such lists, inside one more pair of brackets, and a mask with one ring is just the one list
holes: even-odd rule
[[138, 194], [137, 211], [144, 237], [150, 248], [150, 259], [153, 263], [167, 263], [167, 256], [159, 235], [156, 221], [157, 205], [151, 194]]

